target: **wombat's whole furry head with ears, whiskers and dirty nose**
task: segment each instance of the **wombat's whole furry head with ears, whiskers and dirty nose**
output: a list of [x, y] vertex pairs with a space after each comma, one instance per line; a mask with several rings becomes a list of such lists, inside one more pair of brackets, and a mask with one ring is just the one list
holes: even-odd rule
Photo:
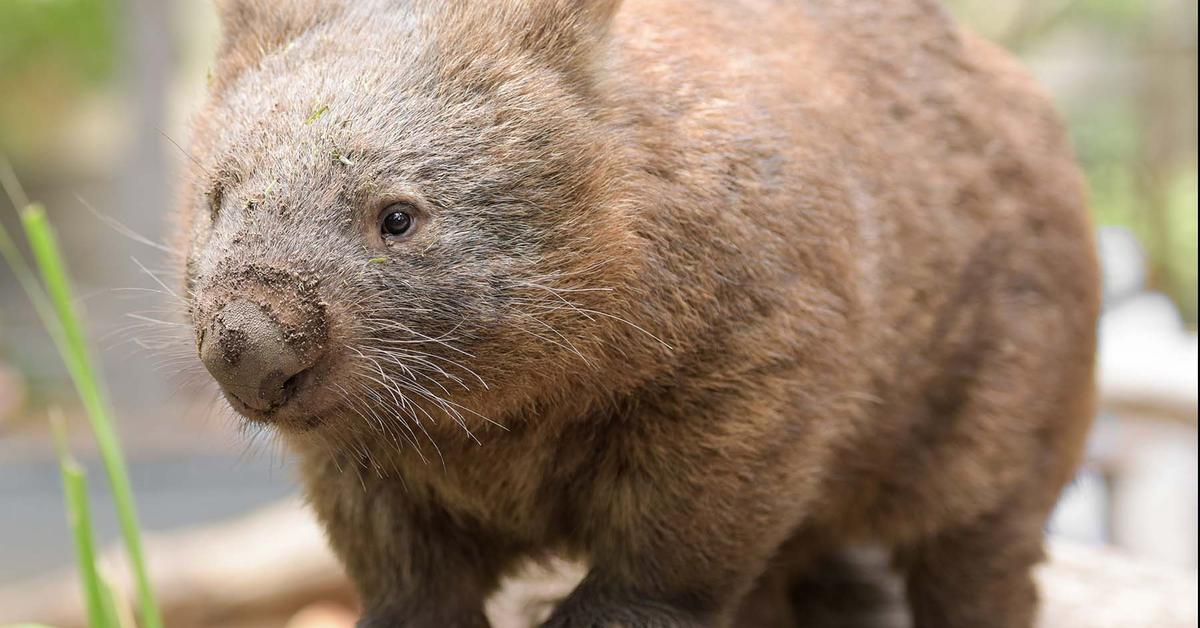
[[414, 438], [608, 351], [637, 257], [595, 95], [616, 4], [223, 2], [182, 223], [235, 409]]

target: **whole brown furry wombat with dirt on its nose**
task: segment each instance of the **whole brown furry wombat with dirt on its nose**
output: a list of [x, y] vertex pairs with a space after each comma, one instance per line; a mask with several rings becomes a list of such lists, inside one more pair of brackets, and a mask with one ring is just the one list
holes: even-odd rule
[[220, 8], [196, 345], [360, 626], [487, 626], [552, 554], [546, 627], [800, 624], [862, 544], [918, 627], [1031, 624], [1098, 288], [1004, 53], [931, 0]]

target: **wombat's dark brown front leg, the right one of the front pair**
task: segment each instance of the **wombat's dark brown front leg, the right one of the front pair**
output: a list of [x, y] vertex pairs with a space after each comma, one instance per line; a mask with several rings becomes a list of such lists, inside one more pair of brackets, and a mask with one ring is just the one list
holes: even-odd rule
[[606, 436], [582, 518], [592, 570], [544, 628], [728, 624], [805, 494], [794, 436], [738, 409], [739, 433], [654, 417]]

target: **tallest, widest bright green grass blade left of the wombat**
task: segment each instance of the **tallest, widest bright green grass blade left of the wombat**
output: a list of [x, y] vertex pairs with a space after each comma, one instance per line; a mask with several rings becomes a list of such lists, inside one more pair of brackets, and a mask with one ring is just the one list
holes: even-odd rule
[[62, 361], [66, 363], [67, 372], [71, 375], [88, 412], [88, 419], [91, 421], [101, 459], [104, 462], [121, 536], [125, 539], [125, 550], [128, 554], [130, 567], [133, 570], [138, 591], [142, 623], [145, 628], [162, 628], [162, 615], [145, 567], [142, 532], [138, 525], [133, 489], [125, 466], [125, 456], [113, 427], [112, 412], [101, 387], [98, 371], [95, 369], [88, 337], [71, 298], [71, 282], [67, 277], [58, 238], [46, 219], [46, 211], [38, 205], [30, 205], [22, 211], [22, 225], [25, 228], [25, 237], [29, 240], [34, 259], [37, 262], [37, 268], [41, 270], [42, 282], [56, 316], [58, 324], [47, 322], [47, 327], [50, 329], [50, 335], [55, 336]]

